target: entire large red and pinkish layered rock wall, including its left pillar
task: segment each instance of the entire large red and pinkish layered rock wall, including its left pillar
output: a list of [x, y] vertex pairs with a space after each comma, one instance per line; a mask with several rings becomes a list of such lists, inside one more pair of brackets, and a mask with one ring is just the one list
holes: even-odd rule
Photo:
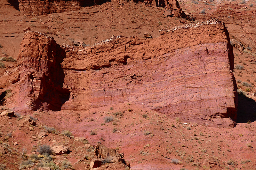
[[175, 28], [150, 40], [111, 37], [86, 48], [62, 49], [27, 32], [20, 47], [19, 96], [25, 98], [17, 101], [32, 109], [133, 102], [180, 121], [235, 125], [234, 56], [223, 23]]

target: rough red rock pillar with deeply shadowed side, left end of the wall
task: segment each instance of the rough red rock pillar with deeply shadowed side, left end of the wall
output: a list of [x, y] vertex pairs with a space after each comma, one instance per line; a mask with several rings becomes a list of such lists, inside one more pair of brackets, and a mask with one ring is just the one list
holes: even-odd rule
[[24, 35], [19, 53], [18, 106], [32, 110], [60, 110], [69, 99], [69, 90], [62, 88], [64, 73], [60, 67], [63, 49], [44, 33]]

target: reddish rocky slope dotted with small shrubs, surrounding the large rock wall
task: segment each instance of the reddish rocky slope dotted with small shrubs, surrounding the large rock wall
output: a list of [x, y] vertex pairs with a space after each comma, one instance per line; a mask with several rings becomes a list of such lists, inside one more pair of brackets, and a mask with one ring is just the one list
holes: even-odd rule
[[[3, 78], [4, 74], [17, 72], [23, 30], [28, 26], [32, 31], [52, 36], [60, 45], [70, 45], [74, 39], [77, 43], [82, 41], [84, 46], [91, 46], [112, 35], [142, 38], [148, 32], [154, 39], [160, 37], [160, 29], [217, 18], [227, 26], [234, 51], [233, 71], [239, 102], [234, 128], [181, 122], [133, 102], [88, 110], [26, 110], [27, 113], [15, 112], [13, 117], [1, 115], [0, 169], [90, 169], [94, 147], [98, 143], [124, 152], [124, 159], [130, 162], [133, 170], [256, 169], [256, 3], [215, 0], [179, 3], [190, 16], [187, 19], [165, 16], [162, 7], [114, 0], [84, 6], [77, 11], [24, 15], [7, 1], [0, 0], [0, 76], [4, 81], [1, 89], [6, 90], [19, 81], [15, 76], [8, 81]], [[8, 72], [10, 69], [11, 73]], [[1, 99], [14, 102], [13, 93], [6, 91]], [[1, 102], [1, 105], [8, 103]], [[4, 111], [3, 106], [1, 109]], [[36, 125], [21, 127], [24, 115], [30, 115]], [[41, 132], [46, 135], [40, 136]], [[69, 151], [40, 156], [38, 151], [43, 144], [63, 145]], [[100, 169], [127, 167], [107, 163]]]

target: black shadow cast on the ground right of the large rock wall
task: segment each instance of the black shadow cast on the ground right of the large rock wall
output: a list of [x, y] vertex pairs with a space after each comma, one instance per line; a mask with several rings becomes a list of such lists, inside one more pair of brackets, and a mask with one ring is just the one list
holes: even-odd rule
[[256, 102], [242, 93], [238, 93], [237, 123], [256, 120]]

